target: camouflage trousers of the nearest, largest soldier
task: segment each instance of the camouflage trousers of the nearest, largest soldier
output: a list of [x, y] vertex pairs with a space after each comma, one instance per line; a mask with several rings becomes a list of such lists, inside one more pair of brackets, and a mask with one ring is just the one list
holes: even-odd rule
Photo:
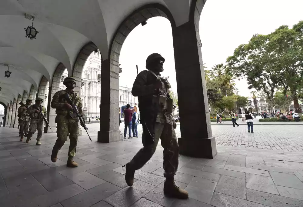
[[132, 161], [130, 162], [130, 168], [132, 170], [138, 170], [145, 165], [145, 163], [151, 159], [151, 156], [155, 153], [159, 139], [161, 139], [161, 146], [163, 150], [163, 169], [164, 177], [173, 177], [178, 169], [179, 164], [179, 145], [175, 129], [172, 124], [155, 123], [155, 143], [148, 145], [145, 142], [145, 134], [143, 131], [142, 143], [143, 148], [137, 152]]

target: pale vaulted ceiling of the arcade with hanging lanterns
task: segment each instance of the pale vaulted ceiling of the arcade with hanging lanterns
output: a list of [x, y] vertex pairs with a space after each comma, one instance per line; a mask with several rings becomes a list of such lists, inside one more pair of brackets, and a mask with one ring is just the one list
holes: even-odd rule
[[[191, 0], [1, 0], [0, 5], [0, 102], [9, 103], [38, 89], [45, 76], [52, 81], [62, 62], [72, 74], [80, 49], [94, 42], [104, 59], [118, 26], [136, 9], [158, 3], [171, 12], [176, 26], [188, 22]], [[25, 37], [35, 17], [37, 39]], [[10, 78], [4, 71], [10, 65]], [[2, 75], [1, 75], [2, 74]]]

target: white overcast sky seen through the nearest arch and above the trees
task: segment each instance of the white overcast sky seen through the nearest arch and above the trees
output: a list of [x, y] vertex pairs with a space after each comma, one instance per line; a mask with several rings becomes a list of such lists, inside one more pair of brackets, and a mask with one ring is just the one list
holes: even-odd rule
[[[255, 33], [268, 34], [281, 25], [292, 27], [303, 19], [303, 0], [208, 0], [200, 19], [202, 58], [208, 68], [226, 61], [240, 44], [247, 43]], [[177, 92], [175, 59], [170, 22], [154, 17], [145, 26], [137, 26], [126, 38], [119, 63], [122, 73], [119, 85], [132, 87], [145, 60], [151, 53], [165, 58], [162, 76], [170, 76]], [[246, 81], [235, 80], [239, 94], [249, 96]]]

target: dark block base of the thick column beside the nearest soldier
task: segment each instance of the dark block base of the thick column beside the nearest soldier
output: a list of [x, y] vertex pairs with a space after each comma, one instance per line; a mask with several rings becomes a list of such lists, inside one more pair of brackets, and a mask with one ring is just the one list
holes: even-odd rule
[[215, 137], [208, 139], [178, 138], [179, 153], [196, 158], [214, 159], [217, 155]]

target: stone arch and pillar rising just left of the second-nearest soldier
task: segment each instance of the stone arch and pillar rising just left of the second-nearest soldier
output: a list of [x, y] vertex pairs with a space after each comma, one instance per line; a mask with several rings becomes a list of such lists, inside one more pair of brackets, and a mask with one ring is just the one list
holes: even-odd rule
[[49, 122], [50, 127], [52, 128], [49, 129], [49, 127], [45, 126], [44, 128], [44, 133], [47, 132], [55, 132], [56, 131], [56, 123], [55, 123], [55, 118], [56, 118], [56, 109], [53, 109], [51, 107], [51, 101], [52, 101], [52, 97], [54, 96], [54, 94], [60, 90], [60, 82], [61, 82], [61, 78], [62, 75], [65, 71], [65, 65], [63, 65], [63, 63], [60, 63], [57, 68], [55, 69], [54, 75], [53, 75], [53, 79], [52, 79], [52, 85], [49, 85], [48, 88], [48, 104], [47, 104], [47, 120]]

